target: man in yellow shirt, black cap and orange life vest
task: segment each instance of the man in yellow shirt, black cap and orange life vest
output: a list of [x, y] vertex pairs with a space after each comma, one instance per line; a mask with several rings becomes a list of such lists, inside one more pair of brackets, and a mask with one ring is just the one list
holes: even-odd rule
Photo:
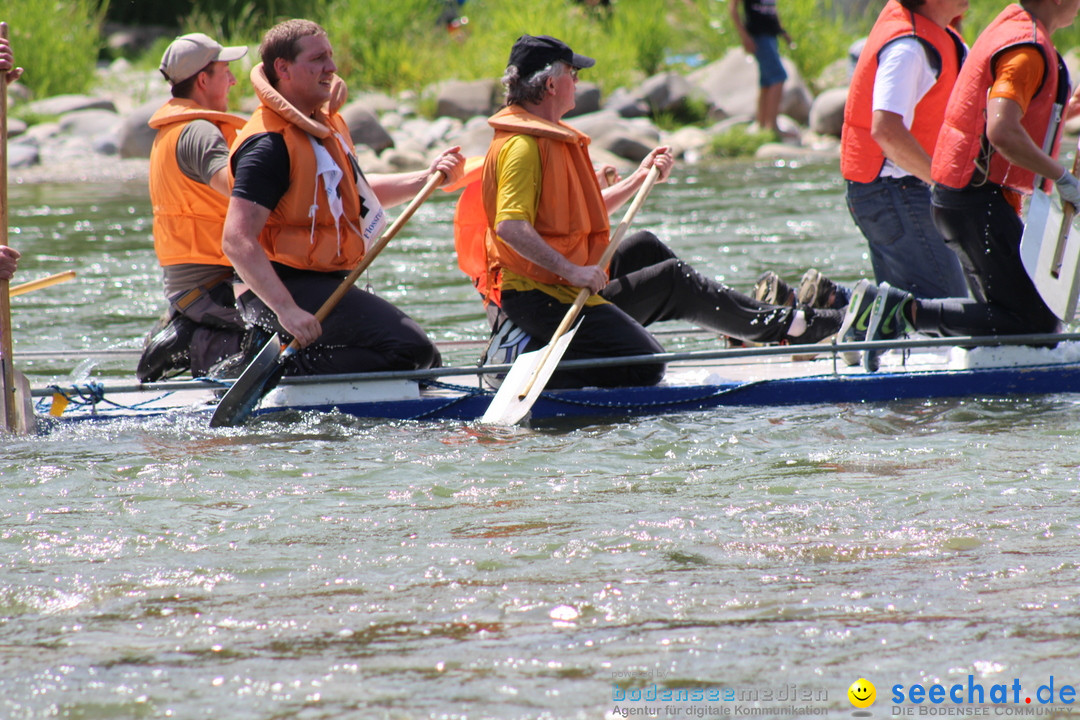
[[[610, 268], [596, 264], [610, 240], [609, 214], [634, 195], [653, 165], [665, 180], [674, 159], [667, 148], [656, 148], [629, 177], [600, 189], [589, 137], [562, 121], [575, 106], [578, 71], [593, 64], [546, 36], [522, 36], [511, 50], [507, 105], [488, 121], [495, 138], [481, 180], [488, 299], [540, 347], [579, 288], [589, 288], [593, 295], [567, 358], [662, 352], [644, 326], [664, 320], [754, 342], [818, 342], [834, 335], [840, 311], [758, 302], [700, 274], [649, 232], [629, 236]], [[647, 385], [663, 370], [656, 364], [559, 371], [549, 386]]]

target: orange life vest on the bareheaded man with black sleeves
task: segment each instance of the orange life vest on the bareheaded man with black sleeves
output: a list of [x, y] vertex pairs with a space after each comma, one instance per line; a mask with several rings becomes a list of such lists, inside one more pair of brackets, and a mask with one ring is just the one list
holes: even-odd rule
[[[270, 212], [259, 234], [259, 244], [272, 262], [291, 268], [319, 272], [352, 270], [364, 258], [364, 240], [357, 227], [361, 203], [354, 159], [349, 157], [355, 150], [348, 125], [336, 109], [326, 106], [320, 109], [315, 120], [301, 120], [302, 116], [270, 87], [261, 64], [252, 70], [252, 81], [261, 104], [240, 131], [232, 151], [234, 153], [254, 135], [276, 133], [285, 139], [289, 161], [288, 190]], [[325, 186], [316, 174], [312, 138], [341, 168], [338, 191], [343, 214], [340, 222], [335, 222]]]

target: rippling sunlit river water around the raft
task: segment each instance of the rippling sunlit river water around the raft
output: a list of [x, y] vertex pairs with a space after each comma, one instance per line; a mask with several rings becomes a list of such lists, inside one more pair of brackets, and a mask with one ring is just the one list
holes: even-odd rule
[[[367, 282], [458, 342], [451, 201]], [[16, 185], [11, 213], [22, 280], [79, 272], [13, 300], [22, 369], [131, 378], [80, 361], [162, 310], [145, 182]], [[746, 289], [868, 271], [835, 163], [681, 168], [636, 227]], [[846, 718], [861, 678], [864, 717], [1068, 717], [1078, 436], [1059, 396], [4, 438], [0, 718]]]

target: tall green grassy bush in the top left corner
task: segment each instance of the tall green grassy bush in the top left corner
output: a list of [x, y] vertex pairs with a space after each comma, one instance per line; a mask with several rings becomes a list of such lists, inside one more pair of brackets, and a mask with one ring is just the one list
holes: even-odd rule
[[2, 10], [19, 82], [36, 97], [83, 93], [94, 83], [108, 0], [9, 2]]

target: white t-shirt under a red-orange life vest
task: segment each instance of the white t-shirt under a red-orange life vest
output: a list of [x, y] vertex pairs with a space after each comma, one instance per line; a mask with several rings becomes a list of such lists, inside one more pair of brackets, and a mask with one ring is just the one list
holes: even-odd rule
[[[937, 82], [927, 57], [927, 50], [915, 38], [901, 38], [886, 45], [878, 56], [877, 74], [874, 76], [874, 110], [895, 112], [910, 130], [915, 106]], [[879, 177], [905, 177], [905, 169], [886, 159]]]

